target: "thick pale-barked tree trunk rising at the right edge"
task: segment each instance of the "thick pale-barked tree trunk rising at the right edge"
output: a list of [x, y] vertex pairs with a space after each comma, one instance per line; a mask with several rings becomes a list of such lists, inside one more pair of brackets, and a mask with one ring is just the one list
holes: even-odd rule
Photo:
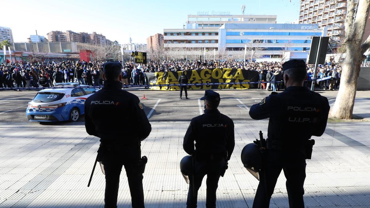
[[364, 53], [370, 47], [370, 36], [362, 43], [369, 9], [370, 0], [347, 0], [346, 37], [343, 40], [346, 47], [346, 58], [342, 62], [342, 76], [336, 102], [330, 110], [332, 117], [353, 118], [360, 65], [366, 58]]

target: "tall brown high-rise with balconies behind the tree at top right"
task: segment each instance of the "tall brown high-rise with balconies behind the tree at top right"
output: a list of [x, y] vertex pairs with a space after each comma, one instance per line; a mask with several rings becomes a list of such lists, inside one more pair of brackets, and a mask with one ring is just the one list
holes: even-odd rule
[[299, 23], [326, 27], [330, 40], [342, 41], [346, 14], [346, 0], [301, 0]]

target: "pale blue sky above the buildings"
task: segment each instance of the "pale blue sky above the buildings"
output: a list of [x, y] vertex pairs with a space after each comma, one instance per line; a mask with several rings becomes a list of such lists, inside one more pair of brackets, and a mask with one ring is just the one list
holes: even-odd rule
[[[31, 34], [46, 37], [52, 30], [96, 31], [108, 39], [135, 43], [163, 29], [182, 28], [188, 14], [198, 11], [229, 11], [242, 14], [277, 15], [277, 23], [299, 17], [300, 0], [16, 0], [3, 1], [8, 8], [0, 25], [13, 30], [15, 42], [27, 41]], [[10, 17], [10, 18], [9, 18]]]

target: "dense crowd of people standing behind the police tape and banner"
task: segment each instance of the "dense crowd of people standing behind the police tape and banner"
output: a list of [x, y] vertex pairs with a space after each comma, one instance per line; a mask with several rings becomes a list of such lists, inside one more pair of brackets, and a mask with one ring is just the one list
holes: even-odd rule
[[[99, 87], [103, 85], [102, 61], [53, 61], [40, 63], [8, 63], [0, 66], [0, 88], [53, 87], [57, 83], [78, 82]], [[370, 64], [366, 64], [370, 66]], [[122, 64], [122, 84], [148, 84], [145, 73], [201, 70], [214, 68], [240, 68], [259, 72], [259, 81], [282, 81], [282, 63], [243, 61], [149, 61], [136, 64], [127, 61]], [[314, 65], [307, 64], [306, 86], [311, 87]], [[317, 89], [336, 90], [340, 85], [342, 67], [334, 62], [320, 64], [316, 70], [317, 79], [330, 76], [330, 79], [315, 83]], [[147, 87], [146, 87], [147, 88]], [[260, 83], [259, 89], [278, 91], [283, 83]]]

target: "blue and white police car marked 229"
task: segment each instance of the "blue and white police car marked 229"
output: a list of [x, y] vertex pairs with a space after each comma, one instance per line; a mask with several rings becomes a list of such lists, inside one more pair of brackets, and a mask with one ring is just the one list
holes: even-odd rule
[[97, 88], [78, 83], [58, 83], [56, 86], [70, 88], [38, 91], [33, 100], [28, 102], [26, 115], [29, 121], [77, 121], [84, 114], [86, 98], [98, 91]]

